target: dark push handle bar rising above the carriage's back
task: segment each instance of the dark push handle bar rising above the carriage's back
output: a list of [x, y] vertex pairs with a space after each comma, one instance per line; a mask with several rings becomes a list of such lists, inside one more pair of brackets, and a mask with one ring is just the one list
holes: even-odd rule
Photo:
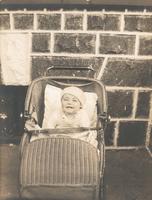
[[93, 75], [95, 77], [96, 75], [96, 71], [92, 68], [92, 66], [89, 66], [89, 67], [62, 67], [61, 66], [54, 66], [52, 65], [51, 67], [47, 68], [47, 70], [45, 71], [45, 76], [47, 75], [47, 73], [50, 71], [50, 70], [86, 70], [86, 71], [92, 71], [93, 72]]

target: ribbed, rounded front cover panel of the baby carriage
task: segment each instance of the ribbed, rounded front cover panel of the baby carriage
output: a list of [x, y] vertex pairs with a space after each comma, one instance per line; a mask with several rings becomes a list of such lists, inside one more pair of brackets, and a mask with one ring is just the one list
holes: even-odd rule
[[29, 143], [20, 169], [22, 188], [28, 185], [99, 184], [96, 148], [74, 138], [47, 138]]

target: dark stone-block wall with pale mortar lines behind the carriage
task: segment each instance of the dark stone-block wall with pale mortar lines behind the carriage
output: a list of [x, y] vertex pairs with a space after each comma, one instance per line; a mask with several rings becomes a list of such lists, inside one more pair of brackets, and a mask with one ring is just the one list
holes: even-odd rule
[[0, 28], [1, 34], [28, 34], [31, 79], [52, 64], [96, 70], [108, 92], [109, 148], [152, 143], [151, 12], [5, 10]]

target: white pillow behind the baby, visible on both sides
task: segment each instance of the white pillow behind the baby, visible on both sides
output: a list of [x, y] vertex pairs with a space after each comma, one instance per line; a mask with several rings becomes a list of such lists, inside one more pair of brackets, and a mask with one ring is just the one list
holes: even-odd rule
[[[62, 89], [52, 86], [46, 85], [45, 94], [44, 94], [44, 119], [42, 128], [45, 128], [48, 119], [50, 120], [51, 116], [54, 116], [55, 112], [58, 112], [61, 109], [61, 93]], [[86, 101], [83, 109], [87, 112], [91, 126], [95, 125], [97, 120], [97, 95], [93, 92], [84, 92]]]

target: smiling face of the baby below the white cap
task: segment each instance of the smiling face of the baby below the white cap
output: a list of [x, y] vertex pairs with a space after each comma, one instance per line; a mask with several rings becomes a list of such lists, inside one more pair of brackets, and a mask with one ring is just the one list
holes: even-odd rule
[[80, 101], [71, 94], [64, 94], [61, 99], [61, 103], [63, 112], [67, 114], [75, 114], [81, 108]]

